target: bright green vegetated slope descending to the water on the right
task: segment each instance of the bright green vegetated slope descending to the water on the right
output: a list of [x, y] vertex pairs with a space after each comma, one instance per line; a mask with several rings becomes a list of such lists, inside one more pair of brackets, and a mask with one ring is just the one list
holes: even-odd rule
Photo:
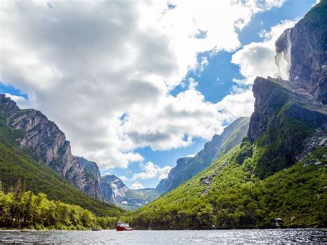
[[[275, 217], [286, 227], [326, 227], [326, 147], [263, 180], [255, 176], [252, 158], [237, 163], [244, 147], [236, 146], [210, 168], [123, 219], [135, 228], [152, 229], [268, 228], [275, 227]], [[312, 159], [323, 164], [303, 166]]]

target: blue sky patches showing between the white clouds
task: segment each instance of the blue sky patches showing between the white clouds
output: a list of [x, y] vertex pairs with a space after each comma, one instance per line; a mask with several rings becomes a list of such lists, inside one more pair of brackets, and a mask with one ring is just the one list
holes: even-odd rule
[[[315, 0], [288, 0], [284, 3], [281, 8], [273, 8], [270, 11], [261, 12], [255, 14], [252, 17], [250, 23], [245, 26], [241, 31], [237, 31], [237, 35], [239, 36], [239, 41], [242, 46], [245, 46], [249, 43], [253, 42], [261, 42], [264, 41], [263, 38], [259, 36], [259, 32], [261, 30], [269, 30], [272, 26], [276, 26], [283, 20], [290, 19], [293, 20], [295, 18], [303, 17], [308, 10], [313, 6]], [[52, 4], [55, 9], [55, 4]], [[177, 8], [179, 6], [177, 5]], [[173, 10], [175, 8], [168, 8]], [[204, 35], [204, 33], [200, 33]], [[237, 50], [241, 49], [239, 47]], [[201, 60], [206, 57], [208, 60], [208, 66], [204, 66], [204, 69], [191, 70], [186, 75], [184, 75], [184, 82], [176, 86], [173, 90], [170, 91], [170, 95], [177, 96], [181, 92], [185, 92], [189, 88], [189, 79], [194, 79], [197, 81], [197, 91], [201, 92], [204, 95], [205, 100], [208, 102], [212, 102], [212, 104], [216, 104], [221, 101], [226, 95], [230, 95], [232, 93], [232, 87], [244, 87], [233, 82], [233, 79], [244, 79], [244, 77], [239, 72], [239, 66], [234, 63], [231, 63], [232, 55], [237, 52], [234, 50], [233, 52], [220, 51], [215, 55], [210, 55], [210, 52], [201, 52], [197, 56], [197, 60], [201, 63]], [[2, 59], [1, 59], [2, 60]], [[19, 71], [17, 71], [19, 72]], [[6, 84], [6, 85], [5, 85]], [[15, 84], [19, 84], [19, 82], [15, 82]], [[26, 88], [24, 86], [18, 86], [15, 88], [14, 84], [10, 81], [2, 81], [0, 82], [0, 93], [9, 93], [11, 95], [22, 96], [25, 99], [29, 99], [30, 95], [27, 92], [21, 92], [18, 88]], [[246, 86], [245, 86], [246, 87]], [[28, 89], [27, 89], [28, 90]], [[27, 91], [26, 90], [26, 91]], [[32, 91], [32, 90], [31, 90]], [[45, 95], [46, 96], [46, 95]], [[39, 105], [39, 108], [42, 110], [42, 106]], [[49, 114], [47, 108], [45, 114]], [[58, 119], [57, 119], [58, 117]], [[61, 116], [51, 115], [50, 119], [57, 119], [59, 121], [60, 126], [62, 125], [65, 128], [65, 133], [72, 137], [72, 143], [74, 146], [74, 135], [70, 133], [70, 126], [66, 123]], [[187, 135], [185, 135], [187, 137]], [[208, 139], [203, 139], [201, 137], [192, 137], [192, 143], [186, 147], [170, 147], [167, 150], [152, 150], [150, 146], [141, 146], [135, 148], [134, 153], [138, 153], [143, 156], [143, 162], [146, 163], [151, 161], [153, 164], [159, 166], [160, 168], [164, 168], [164, 166], [175, 166], [176, 161], [179, 157], [186, 157], [187, 155], [191, 155], [201, 150], [204, 147], [204, 143], [208, 141]], [[78, 147], [77, 147], [78, 148]], [[90, 154], [92, 155], [92, 154]], [[114, 173], [117, 176], [124, 176], [127, 179], [131, 179], [132, 175], [135, 173], [141, 173], [144, 169], [140, 166], [137, 161], [130, 161], [128, 168], [115, 167], [110, 169], [101, 168], [101, 172], [105, 173]], [[159, 179], [150, 178], [150, 179], [137, 179], [143, 187], [145, 188], [153, 188], [155, 187]], [[132, 181], [126, 181], [128, 186], [132, 186]]]

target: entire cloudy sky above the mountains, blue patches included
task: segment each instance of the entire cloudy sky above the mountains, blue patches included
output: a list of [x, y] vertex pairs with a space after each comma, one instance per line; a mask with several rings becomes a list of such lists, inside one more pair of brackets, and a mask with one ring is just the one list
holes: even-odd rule
[[101, 175], [154, 188], [251, 115], [275, 40], [316, 2], [1, 1], [0, 93], [55, 121]]

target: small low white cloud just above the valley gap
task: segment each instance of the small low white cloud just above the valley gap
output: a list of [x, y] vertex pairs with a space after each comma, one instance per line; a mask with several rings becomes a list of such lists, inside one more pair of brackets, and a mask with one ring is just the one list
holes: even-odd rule
[[153, 179], [156, 177], [158, 177], [158, 179], [165, 179], [172, 167], [165, 166], [164, 168], [160, 168], [151, 161], [148, 161], [146, 164], [141, 164], [141, 168], [144, 170], [144, 172], [135, 173], [131, 180]]

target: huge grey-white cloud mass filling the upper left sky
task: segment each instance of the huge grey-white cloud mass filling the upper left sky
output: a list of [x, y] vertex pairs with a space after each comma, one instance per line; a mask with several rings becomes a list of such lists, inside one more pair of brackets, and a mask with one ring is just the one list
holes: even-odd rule
[[75, 155], [127, 168], [144, 160], [136, 148], [188, 146], [248, 113], [247, 94], [211, 104], [195, 84], [170, 90], [206, 66], [199, 53], [236, 50], [235, 30], [283, 2], [4, 1], [0, 81], [56, 121]]

